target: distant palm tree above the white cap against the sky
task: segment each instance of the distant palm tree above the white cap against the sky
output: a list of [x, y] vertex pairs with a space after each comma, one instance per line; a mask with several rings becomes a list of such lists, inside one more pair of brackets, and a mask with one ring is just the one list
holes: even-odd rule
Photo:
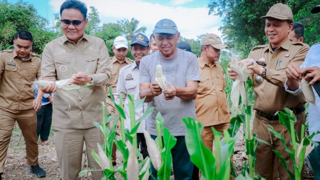
[[137, 28], [139, 22], [140, 21], [138, 21], [134, 17], [132, 17], [130, 21], [128, 19], [124, 18], [123, 20], [118, 22], [119, 24], [121, 24], [123, 34], [126, 36], [126, 38], [129, 41], [132, 39], [134, 34], [139, 33], [139, 32], [141, 32], [141, 33], [145, 32], [145, 30], [146, 30], [145, 26]]

